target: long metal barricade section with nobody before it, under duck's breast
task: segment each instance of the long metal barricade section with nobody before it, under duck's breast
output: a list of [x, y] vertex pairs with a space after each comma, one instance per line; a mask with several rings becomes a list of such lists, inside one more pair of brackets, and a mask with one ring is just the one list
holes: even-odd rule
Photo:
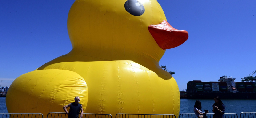
[[172, 114], [116, 114], [116, 118], [176, 118]]

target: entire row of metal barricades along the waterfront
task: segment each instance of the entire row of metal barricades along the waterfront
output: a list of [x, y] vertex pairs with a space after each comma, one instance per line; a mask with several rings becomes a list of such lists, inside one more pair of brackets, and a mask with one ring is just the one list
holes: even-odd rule
[[[213, 113], [206, 114], [212, 118]], [[238, 118], [235, 113], [225, 113], [225, 118]], [[0, 113], [0, 118], [43, 118], [41, 113]], [[64, 112], [50, 112], [47, 118], [68, 118]], [[111, 114], [83, 114], [83, 118], [112, 118]], [[176, 118], [172, 114], [116, 114], [115, 118]], [[195, 113], [180, 114], [179, 118], [197, 118]], [[241, 112], [240, 118], [256, 118], [256, 112]]]

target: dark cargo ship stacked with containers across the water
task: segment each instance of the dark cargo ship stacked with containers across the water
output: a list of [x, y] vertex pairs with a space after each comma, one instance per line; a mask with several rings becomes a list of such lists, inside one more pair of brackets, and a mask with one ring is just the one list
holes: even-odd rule
[[[180, 92], [181, 98], [188, 99], [256, 99], [254, 81], [234, 82], [235, 78], [222, 76], [218, 82], [189, 81], [187, 91]], [[244, 80], [244, 79], [242, 79]]]

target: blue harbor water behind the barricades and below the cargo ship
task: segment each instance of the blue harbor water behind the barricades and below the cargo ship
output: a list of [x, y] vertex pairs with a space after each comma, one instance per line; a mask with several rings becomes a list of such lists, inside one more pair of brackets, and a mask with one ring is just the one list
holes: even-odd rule
[[[180, 114], [194, 113], [193, 107], [196, 100], [201, 101], [203, 111], [206, 109], [209, 113], [213, 113], [213, 99], [180, 99]], [[236, 113], [239, 116], [241, 112], [256, 112], [256, 99], [224, 99], [222, 102], [226, 107], [225, 113]], [[0, 97], [0, 113], [8, 113], [5, 97]]]

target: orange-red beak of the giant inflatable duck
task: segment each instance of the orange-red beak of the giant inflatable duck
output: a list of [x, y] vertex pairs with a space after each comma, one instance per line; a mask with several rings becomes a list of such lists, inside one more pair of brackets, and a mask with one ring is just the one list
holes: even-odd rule
[[148, 26], [148, 30], [163, 50], [175, 48], [188, 39], [187, 31], [177, 30], [165, 20], [158, 25]]

